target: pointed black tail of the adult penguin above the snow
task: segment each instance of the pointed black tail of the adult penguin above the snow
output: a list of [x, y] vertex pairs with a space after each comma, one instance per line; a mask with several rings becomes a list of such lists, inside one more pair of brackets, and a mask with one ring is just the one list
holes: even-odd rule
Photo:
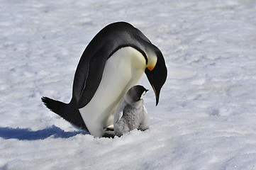
[[50, 111], [60, 115], [62, 118], [77, 126], [78, 128], [89, 132], [78, 109], [72, 105], [72, 101], [67, 104], [61, 101], [55, 101], [48, 97], [42, 97], [41, 100], [45, 106], [50, 109]]

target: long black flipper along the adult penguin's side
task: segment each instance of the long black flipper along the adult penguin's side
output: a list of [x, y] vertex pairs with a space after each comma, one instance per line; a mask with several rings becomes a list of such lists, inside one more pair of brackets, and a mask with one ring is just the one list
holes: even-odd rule
[[[103, 35], [99, 32], [86, 47], [74, 74], [73, 98], [77, 101], [78, 108], [86, 106], [94, 97], [101, 82], [106, 60], [115, 49], [111, 43], [100, 45], [101, 36]], [[112, 50], [108, 50], [108, 47]]]

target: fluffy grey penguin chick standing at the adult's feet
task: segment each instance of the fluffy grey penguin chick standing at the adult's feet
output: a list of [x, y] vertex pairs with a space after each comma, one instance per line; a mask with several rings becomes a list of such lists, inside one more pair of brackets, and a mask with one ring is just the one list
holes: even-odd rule
[[113, 123], [115, 135], [120, 137], [130, 130], [147, 130], [149, 128], [148, 112], [142, 98], [147, 91], [140, 85], [129, 89], [117, 108]]

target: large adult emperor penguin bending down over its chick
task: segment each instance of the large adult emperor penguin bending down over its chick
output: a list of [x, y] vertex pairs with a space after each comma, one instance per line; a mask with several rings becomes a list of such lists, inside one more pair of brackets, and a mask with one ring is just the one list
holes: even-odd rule
[[111, 23], [85, 48], [74, 74], [69, 103], [42, 97], [51, 111], [95, 137], [113, 125], [118, 103], [145, 72], [155, 91], [167, 79], [162, 52], [137, 28], [126, 22]]

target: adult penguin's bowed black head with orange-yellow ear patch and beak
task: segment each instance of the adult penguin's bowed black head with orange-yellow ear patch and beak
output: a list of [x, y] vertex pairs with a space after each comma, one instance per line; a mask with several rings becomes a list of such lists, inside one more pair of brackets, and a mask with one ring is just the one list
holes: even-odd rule
[[151, 50], [147, 55], [148, 63], [146, 65], [145, 74], [155, 92], [157, 106], [160, 98], [160, 91], [167, 79], [167, 68], [162, 52], [155, 45], [150, 44], [150, 46]]

